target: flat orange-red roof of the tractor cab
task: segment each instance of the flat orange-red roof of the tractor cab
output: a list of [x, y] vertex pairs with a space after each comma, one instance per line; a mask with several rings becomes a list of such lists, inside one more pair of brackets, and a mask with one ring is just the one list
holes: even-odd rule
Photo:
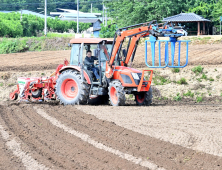
[[70, 40], [70, 44], [99, 44], [104, 40], [107, 41], [107, 43], [113, 42], [113, 40], [107, 38], [74, 38]]

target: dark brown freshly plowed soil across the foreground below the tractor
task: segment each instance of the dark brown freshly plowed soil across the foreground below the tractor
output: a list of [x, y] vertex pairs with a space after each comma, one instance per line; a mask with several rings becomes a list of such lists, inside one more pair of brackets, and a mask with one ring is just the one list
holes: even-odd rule
[[[77, 110], [73, 106], [64, 107], [57, 105], [57, 103], [11, 103], [1, 105], [0, 123], [4, 124], [14, 139], [21, 143], [23, 151], [29, 153], [40, 164], [50, 169], [147, 168], [122, 159], [103, 149], [98, 149], [66, 133], [63, 129], [54, 126], [39, 115], [36, 108], [41, 108], [45, 113], [59, 120], [65, 126], [85, 133], [105, 146], [148, 160], [158, 167], [165, 169], [221, 169], [222, 166], [221, 157], [197, 152], [132, 131], [129, 128], [125, 128], [123, 124], [119, 124], [119, 121], [107, 121], [105, 120], [106, 118], [98, 119], [93, 115]], [[113, 110], [112, 107], [110, 109]], [[124, 114], [125, 109], [124, 107], [120, 108], [120, 113]], [[105, 110], [107, 108], [103, 108], [101, 111], [104, 112]], [[115, 110], [113, 111], [114, 113], [116, 112]], [[154, 112], [152, 114], [158, 114], [158, 111]], [[94, 109], [92, 113], [94, 114]], [[107, 119], [109, 118], [107, 117]], [[150, 124], [149, 126], [152, 125]], [[138, 124], [139, 127], [142, 128], [143, 126]], [[166, 130], [166, 128], [164, 129]], [[7, 149], [7, 146], [1, 146], [1, 152]], [[6, 164], [0, 164], [0, 169], [5, 169], [6, 167], [8, 169], [11, 165], [14, 165], [14, 169], [20, 169], [19, 167], [22, 169], [21, 162], [16, 161], [15, 158], [10, 159], [10, 154], [3, 152], [4, 156], [1, 159]]]

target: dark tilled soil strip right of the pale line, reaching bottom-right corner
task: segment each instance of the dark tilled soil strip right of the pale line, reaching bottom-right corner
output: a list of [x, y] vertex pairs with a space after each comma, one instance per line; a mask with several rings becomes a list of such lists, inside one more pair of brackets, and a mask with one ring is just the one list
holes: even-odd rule
[[[84, 106], [83, 106], [84, 107]], [[85, 106], [87, 107], [87, 106]], [[78, 131], [115, 149], [137, 157], [146, 158], [166, 169], [220, 169], [222, 160], [212, 155], [197, 153], [191, 149], [145, 136], [91, 115], [85, 115], [72, 106], [45, 106], [47, 113]], [[189, 161], [186, 161], [189, 159]], [[218, 161], [219, 159], [219, 161]], [[216, 163], [208, 164], [215, 160]], [[206, 163], [207, 162], [207, 163]], [[203, 166], [204, 165], [204, 166]]]

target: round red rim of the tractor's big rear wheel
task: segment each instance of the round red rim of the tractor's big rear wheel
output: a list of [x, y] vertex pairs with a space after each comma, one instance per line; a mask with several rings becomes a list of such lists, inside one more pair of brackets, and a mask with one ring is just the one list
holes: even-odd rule
[[72, 100], [78, 94], [78, 85], [73, 79], [65, 79], [61, 86], [61, 92], [66, 99]]

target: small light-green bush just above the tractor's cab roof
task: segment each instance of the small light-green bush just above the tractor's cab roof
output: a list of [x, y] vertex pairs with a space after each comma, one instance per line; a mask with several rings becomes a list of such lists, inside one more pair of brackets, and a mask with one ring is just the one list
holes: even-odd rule
[[102, 24], [99, 36], [101, 38], [113, 38], [116, 30], [117, 30], [116, 24], [112, 24], [111, 21], [108, 21], [106, 27]]

